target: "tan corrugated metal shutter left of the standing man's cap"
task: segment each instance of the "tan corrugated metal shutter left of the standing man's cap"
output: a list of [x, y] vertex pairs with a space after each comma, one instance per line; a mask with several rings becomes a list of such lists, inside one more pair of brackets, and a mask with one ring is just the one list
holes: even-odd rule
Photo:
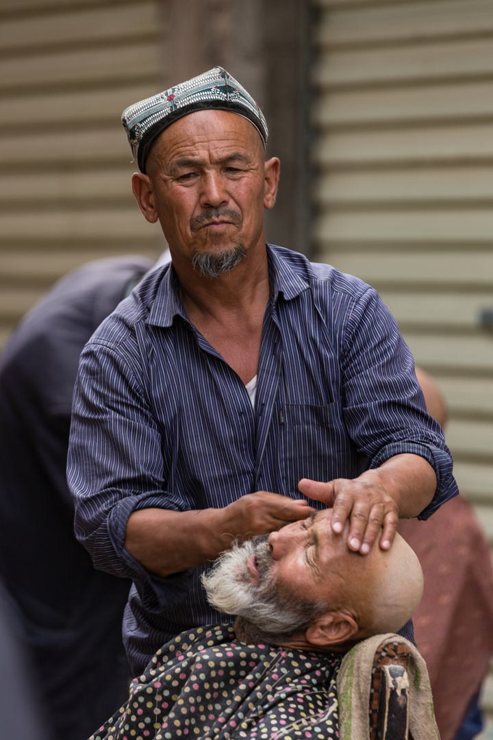
[[0, 345], [67, 270], [157, 255], [120, 114], [160, 89], [159, 0], [2, 0]]

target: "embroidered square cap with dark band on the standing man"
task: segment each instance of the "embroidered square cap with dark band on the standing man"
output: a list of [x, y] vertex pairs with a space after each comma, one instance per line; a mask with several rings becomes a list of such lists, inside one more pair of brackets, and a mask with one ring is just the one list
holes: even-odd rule
[[140, 172], [146, 172], [149, 148], [164, 129], [188, 113], [210, 109], [231, 110], [247, 118], [267, 144], [267, 123], [254, 98], [226, 70], [214, 67], [123, 111], [121, 121]]

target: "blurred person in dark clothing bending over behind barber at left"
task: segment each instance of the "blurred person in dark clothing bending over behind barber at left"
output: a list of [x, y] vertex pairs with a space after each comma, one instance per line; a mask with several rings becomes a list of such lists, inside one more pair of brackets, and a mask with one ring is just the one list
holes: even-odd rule
[[97, 260], [24, 317], [0, 356], [0, 576], [51, 737], [81, 740], [126, 695], [129, 582], [96, 571], [75, 540], [65, 468], [78, 358], [152, 266]]

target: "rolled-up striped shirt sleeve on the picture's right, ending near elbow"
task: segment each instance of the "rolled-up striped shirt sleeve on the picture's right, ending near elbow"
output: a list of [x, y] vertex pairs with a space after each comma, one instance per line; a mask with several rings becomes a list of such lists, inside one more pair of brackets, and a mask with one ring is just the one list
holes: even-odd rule
[[420, 455], [434, 468], [435, 496], [418, 517], [427, 519], [458, 494], [452, 455], [441, 427], [426, 412], [414, 360], [397, 323], [371, 288], [350, 312], [341, 364], [345, 420], [367, 468], [401, 453]]

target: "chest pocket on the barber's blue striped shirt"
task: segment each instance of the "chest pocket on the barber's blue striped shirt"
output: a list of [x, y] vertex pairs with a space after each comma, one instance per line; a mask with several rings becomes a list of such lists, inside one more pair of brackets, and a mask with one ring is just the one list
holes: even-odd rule
[[280, 459], [288, 494], [299, 496], [302, 478], [328, 481], [358, 474], [356, 449], [347, 434], [341, 399], [328, 406], [286, 403], [281, 412]]

